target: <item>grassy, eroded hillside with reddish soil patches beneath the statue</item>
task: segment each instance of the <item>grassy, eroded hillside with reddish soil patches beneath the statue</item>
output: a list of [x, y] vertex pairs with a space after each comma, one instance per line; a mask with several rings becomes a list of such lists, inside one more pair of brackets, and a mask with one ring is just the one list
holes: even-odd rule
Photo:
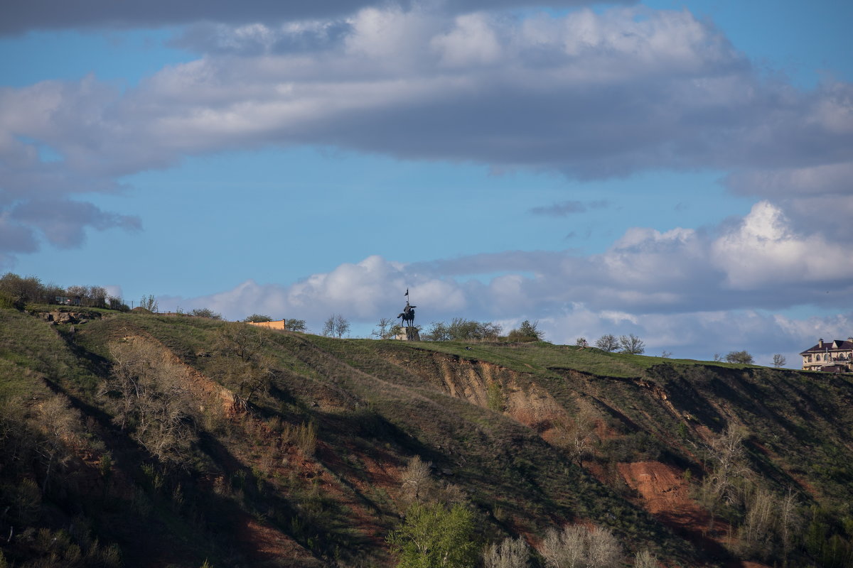
[[32, 311], [0, 310], [0, 565], [392, 566], [412, 502], [478, 547], [853, 565], [850, 375]]

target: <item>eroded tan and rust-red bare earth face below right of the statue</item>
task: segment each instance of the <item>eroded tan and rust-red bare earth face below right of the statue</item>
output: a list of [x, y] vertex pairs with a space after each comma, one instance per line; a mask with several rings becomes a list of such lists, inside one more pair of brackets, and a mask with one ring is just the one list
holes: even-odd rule
[[[583, 468], [616, 491], [623, 491], [624, 487], [629, 489], [633, 494], [630, 501], [645, 508], [676, 534], [699, 548], [717, 552], [721, 549], [728, 526], [717, 521], [714, 530], [709, 529], [710, 515], [688, 495], [688, 482], [682, 468], [656, 460], [613, 462], [608, 466], [606, 458], [602, 462], [594, 456], [601, 451], [594, 446], [601, 448], [608, 440], [618, 443], [639, 431], [640, 427], [624, 414], [629, 410], [626, 407], [635, 407], [633, 410], [650, 422], [654, 417], [649, 413], [649, 405], [678, 420], [693, 420], [687, 411], [673, 404], [658, 383], [641, 378], [592, 377], [566, 370], [563, 371], [566, 388], [561, 391], [561, 402], [537, 384], [532, 374], [501, 365], [435, 352], [405, 360], [392, 359], [450, 396], [500, 411], [531, 427], [549, 443], [570, 453], [577, 450], [578, 459], [585, 456]], [[634, 398], [618, 402], [614, 391], [632, 393]], [[601, 413], [602, 407], [610, 411], [610, 416]], [[585, 430], [580, 432], [581, 429]], [[698, 424], [693, 426], [693, 431], [700, 439], [713, 435], [707, 427]], [[583, 449], [579, 445], [583, 445]]]

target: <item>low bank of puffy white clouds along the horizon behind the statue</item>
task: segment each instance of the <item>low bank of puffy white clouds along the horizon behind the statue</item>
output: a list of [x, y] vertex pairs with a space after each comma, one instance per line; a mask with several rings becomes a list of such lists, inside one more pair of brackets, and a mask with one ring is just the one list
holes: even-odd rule
[[[811, 250], [826, 261], [812, 261]], [[774, 353], [795, 364], [817, 336], [846, 337], [853, 329], [853, 313], [846, 313], [853, 264], [833, 266], [835, 254], [832, 244], [793, 231], [783, 211], [761, 202], [707, 231], [633, 228], [601, 255], [508, 251], [409, 264], [370, 256], [289, 286], [248, 281], [179, 303], [232, 318], [304, 318], [317, 330], [330, 313], [360, 324], [394, 317], [408, 289], [422, 325], [464, 317], [509, 330], [531, 319], [554, 342], [634, 333], [649, 354], [711, 359], [709, 349], [748, 349], [767, 364]], [[842, 313], [779, 315], [807, 305]]]

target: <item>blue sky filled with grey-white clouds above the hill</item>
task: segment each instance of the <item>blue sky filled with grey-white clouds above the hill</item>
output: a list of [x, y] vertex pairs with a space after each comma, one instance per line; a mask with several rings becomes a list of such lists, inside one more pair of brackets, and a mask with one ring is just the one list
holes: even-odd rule
[[853, 336], [853, 3], [31, 0], [0, 272], [370, 336]]

